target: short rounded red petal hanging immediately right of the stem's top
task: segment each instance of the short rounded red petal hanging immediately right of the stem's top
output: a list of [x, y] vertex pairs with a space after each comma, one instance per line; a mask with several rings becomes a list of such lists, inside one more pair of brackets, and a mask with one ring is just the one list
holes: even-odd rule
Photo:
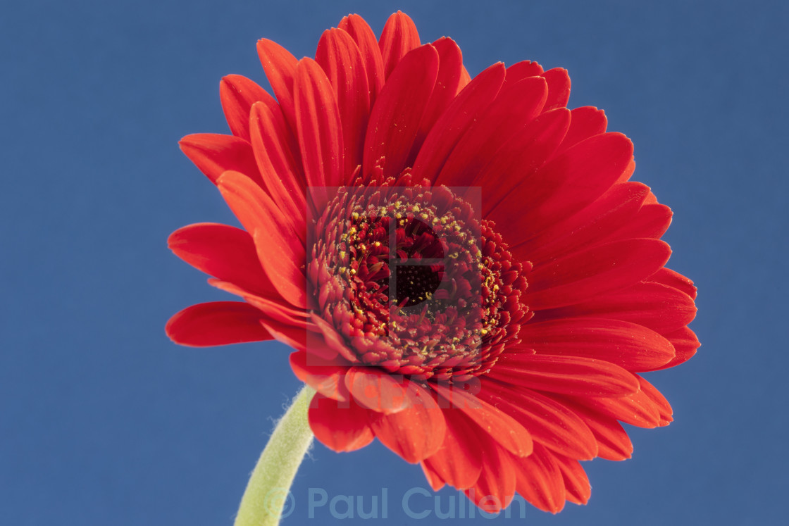
[[315, 437], [334, 451], [359, 450], [375, 438], [367, 423], [367, 409], [353, 401], [336, 401], [316, 393], [308, 417]]

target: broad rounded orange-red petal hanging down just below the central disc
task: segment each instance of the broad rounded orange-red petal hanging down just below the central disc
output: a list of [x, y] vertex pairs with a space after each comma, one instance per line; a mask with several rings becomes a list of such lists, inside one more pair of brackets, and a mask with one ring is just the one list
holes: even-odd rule
[[368, 412], [376, 437], [402, 457], [417, 463], [436, 453], [443, 443], [447, 423], [433, 395], [411, 382], [406, 394], [408, 407], [393, 414]]

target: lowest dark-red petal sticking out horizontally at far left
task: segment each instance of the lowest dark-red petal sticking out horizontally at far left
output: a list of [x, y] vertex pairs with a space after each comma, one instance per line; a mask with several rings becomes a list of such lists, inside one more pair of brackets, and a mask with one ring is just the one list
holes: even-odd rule
[[213, 301], [173, 315], [165, 330], [175, 343], [192, 347], [271, 340], [260, 325], [263, 318], [259, 310], [240, 301]]

